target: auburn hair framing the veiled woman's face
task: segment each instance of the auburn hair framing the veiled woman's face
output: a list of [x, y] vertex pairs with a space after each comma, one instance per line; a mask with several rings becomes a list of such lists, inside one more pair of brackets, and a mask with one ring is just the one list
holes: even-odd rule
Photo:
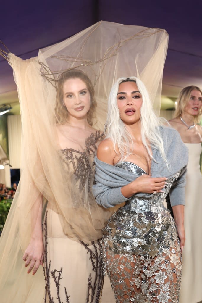
[[94, 112], [95, 108], [97, 106], [97, 103], [94, 98], [94, 87], [92, 85], [91, 80], [88, 78], [88, 76], [78, 70], [78, 69], [73, 69], [69, 70], [66, 72], [63, 72], [58, 80], [57, 80], [57, 97], [56, 97], [56, 105], [55, 105], [55, 116], [56, 116], [56, 121], [60, 124], [65, 124], [68, 120], [68, 110], [65, 105], [63, 105], [63, 97], [64, 97], [64, 92], [63, 92], [63, 85], [65, 81], [69, 79], [81, 79], [87, 86], [87, 89], [90, 93], [90, 109], [87, 114], [87, 121], [88, 123], [92, 126], [93, 124], [93, 118], [94, 118]]

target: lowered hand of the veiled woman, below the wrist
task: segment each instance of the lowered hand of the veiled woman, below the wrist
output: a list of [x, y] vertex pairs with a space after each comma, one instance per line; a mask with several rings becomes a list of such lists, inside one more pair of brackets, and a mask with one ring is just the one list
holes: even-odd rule
[[44, 244], [42, 239], [31, 239], [25, 253], [23, 255], [23, 260], [25, 261], [25, 267], [28, 267], [27, 273], [33, 269], [32, 275], [34, 275], [39, 265], [43, 266], [43, 258], [44, 258]]

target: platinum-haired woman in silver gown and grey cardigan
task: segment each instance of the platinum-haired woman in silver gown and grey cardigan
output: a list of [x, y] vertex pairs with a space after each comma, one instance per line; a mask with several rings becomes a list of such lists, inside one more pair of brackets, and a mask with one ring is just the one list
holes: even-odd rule
[[[104, 228], [102, 257], [117, 303], [179, 302], [187, 148], [155, 116], [144, 84], [119, 78], [108, 100], [107, 135], [95, 157], [93, 193], [125, 205]], [[174, 219], [163, 206], [169, 193]]]

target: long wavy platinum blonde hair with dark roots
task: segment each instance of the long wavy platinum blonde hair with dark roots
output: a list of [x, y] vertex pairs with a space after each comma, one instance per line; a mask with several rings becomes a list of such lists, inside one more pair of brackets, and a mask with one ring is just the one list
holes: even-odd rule
[[162, 119], [157, 118], [157, 116], [155, 115], [147, 89], [144, 83], [136, 77], [118, 78], [118, 80], [115, 82], [111, 89], [108, 99], [108, 115], [105, 131], [106, 138], [111, 139], [114, 145], [114, 150], [117, 152], [118, 148], [118, 151], [121, 154], [121, 158], [118, 163], [123, 161], [129, 155], [132, 155], [130, 146], [133, 146], [133, 139], [131, 137], [130, 132], [124, 125], [124, 122], [120, 119], [119, 109], [117, 106], [117, 94], [119, 85], [121, 84], [121, 82], [129, 81], [136, 82], [137, 87], [142, 95], [142, 106], [140, 110], [142, 143], [147, 149], [148, 154], [154, 161], [155, 159], [151, 155], [147, 142], [150, 142], [151, 147], [157, 148], [160, 151], [161, 156], [168, 167], [168, 162], [164, 152], [163, 140], [159, 131], [159, 125], [163, 125], [165, 124], [165, 122], [163, 123]]

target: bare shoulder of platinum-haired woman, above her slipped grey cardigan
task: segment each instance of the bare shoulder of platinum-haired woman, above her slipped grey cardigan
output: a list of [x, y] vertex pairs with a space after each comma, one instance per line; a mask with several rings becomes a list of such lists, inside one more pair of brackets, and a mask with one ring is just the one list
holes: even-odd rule
[[110, 139], [104, 139], [98, 146], [97, 158], [100, 161], [114, 165], [114, 157], [116, 152], [114, 151], [113, 142]]

